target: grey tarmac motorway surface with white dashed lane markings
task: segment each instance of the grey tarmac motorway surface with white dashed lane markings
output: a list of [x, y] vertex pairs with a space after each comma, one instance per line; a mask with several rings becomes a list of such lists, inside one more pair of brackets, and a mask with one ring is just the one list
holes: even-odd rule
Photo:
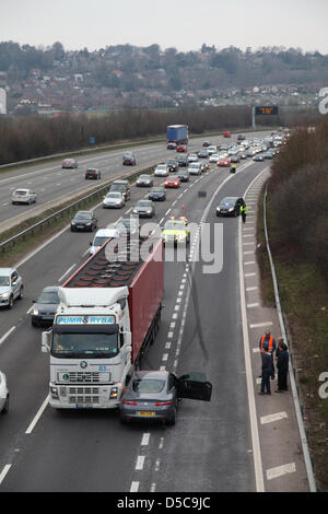
[[[213, 142], [220, 139], [213, 138]], [[190, 147], [189, 151], [196, 149], [197, 142]], [[150, 149], [154, 152], [151, 156]], [[155, 144], [134, 153], [139, 163], [144, 159], [147, 164], [148, 160], [171, 157], [174, 152]], [[117, 167], [122, 166], [121, 152], [108, 155], [80, 161], [85, 167], [101, 167], [101, 162], [106, 162], [102, 171], [109, 176], [112, 171], [117, 173], [115, 160]], [[210, 404], [181, 401], [173, 428], [121, 427], [116, 411], [56, 411], [47, 405], [49, 355], [40, 352], [42, 329], [31, 326], [28, 311], [44, 287], [62, 283], [68, 270], [72, 272], [85, 260], [92, 235], [72, 234], [67, 227], [20, 264], [25, 296], [13, 309], [0, 312], [0, 363], [11, 395], [9, 413], [0, 419], [0, 492], [257, 490], [241, 311], [241, 220], [219, 221], [215, 208], [225, 196], [243, 196], [267, 166], [248, 160], [233, 175], [212, 165], [201, 177], [181, 184], [180, 189], [168, 190], [165, 202], [156, 203], [155, 221], [161, 225], [169, 215], [184, 214], [189, 222], [210, 223], [212, 234], [215, 225], [222, 226], [222, 241], [220, 236], [215, 245], [223, 259], [222, 269], [215, 273], [203, 272], [208, 262], [202, 258], [197, 262], [165, 262], [162, 325], [142, 367], [165, 366], [178, 375], [203, 371], [213, 385]], [[81, 168], [62, 173], [80, 177]], [[35, 173], [31, 180], [39, 183], [46, 175], [52, 176], [54, 170], [50, 166], [43, 172], [36, 166], [28, 174]], [[8, 180], [9, 188], [16, 187], [13, 176], [2, 175], [2, 180]], [[155, 184], [161, 182], [155, 179]], [[48, 187], [48, 180], [45, 183]], [[69, 187], [73, 189], [77, 184], [72, 180]], [[59, 189], [67, 192], [67, 184], [54, 194], [60, 195]], [[200, 190], [207, 197], [199, 197]], [[145, 192], [132, 186], [131, 200], [124, 210], [98, 208], [98, 226], [117, 220], [122, 211], [128, 214]], [[7, 209], [1, 207], [2, 219], [11, 215]], [[197, 234], [195, 237], [190, 246], [194, 253], [199, 243]]]

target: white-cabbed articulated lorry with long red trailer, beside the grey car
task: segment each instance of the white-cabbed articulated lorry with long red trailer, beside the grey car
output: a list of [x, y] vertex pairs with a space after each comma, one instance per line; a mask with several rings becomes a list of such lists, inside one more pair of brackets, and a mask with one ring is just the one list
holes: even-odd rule
[[109, 244], [59, 288], [54, 325], [43, 332], [42, 349], [50, 352], [49, 402], [57, 409], [117, 407], [160, 326], [162, 241], [152, 240], [141, 258], [145, 241], [125, 238], [121, 250], [117, 240], [116, 258], [108, 260]]

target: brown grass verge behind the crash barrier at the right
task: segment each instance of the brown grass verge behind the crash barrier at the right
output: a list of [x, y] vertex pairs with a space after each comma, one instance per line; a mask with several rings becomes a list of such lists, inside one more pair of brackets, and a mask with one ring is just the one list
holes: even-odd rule
[[[274, 293], [263, 231], [263, 191], [258, 205], [257, 258], [262, 301], [274, 305]], [[328, 290], [321, 272], [303, 260], [297, 250], [279, 244], [280, 230], [267, 203], [270, 248], [284, 313], [291, 359], [318, 490], [328, 491], [328, 398], [321, 398], [319, 381], [328, 373]], [[326, 394], [328, 387], [326, 387]]]

